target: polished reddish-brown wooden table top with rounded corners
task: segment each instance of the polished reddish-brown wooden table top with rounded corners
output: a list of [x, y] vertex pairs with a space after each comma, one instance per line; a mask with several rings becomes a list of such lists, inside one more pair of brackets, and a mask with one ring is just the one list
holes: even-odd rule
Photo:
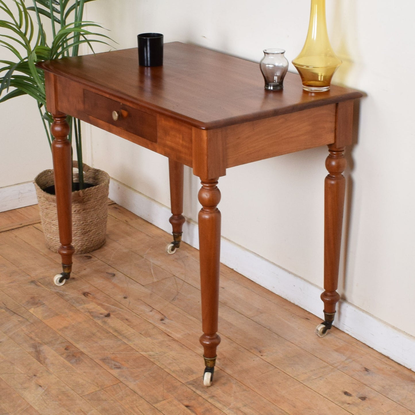
[[38, 66], [201, 129], [362, 96], [336, 85], [327, 92], [309, 93], [293, 73], [287, 73], [283, 90], [268, 91], [258, 63], [180, 42], [164, 45], [163, 66], [139, 66], [137, 48], [45, 61]]

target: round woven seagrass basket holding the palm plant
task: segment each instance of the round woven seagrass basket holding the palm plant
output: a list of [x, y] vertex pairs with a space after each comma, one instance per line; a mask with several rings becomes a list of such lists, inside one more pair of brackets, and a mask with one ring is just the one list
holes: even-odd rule
[[[74, 168], [78, 163], [74, 161]], [[78, 173], [74, 173], [74, 182]], [[83, 164], [83, 180], [93, 187], [72, 192], [72, 246], [76, 254], [94, 251], [105, 243], [108, 189], [110, 178], [105, 171]], [[44, 170], [34, 179], [40, 218], [47, 247], [54, 252], [61, 246], [59, 242], [56, 196], [42, 189], [54, 185], [53, 170]]]

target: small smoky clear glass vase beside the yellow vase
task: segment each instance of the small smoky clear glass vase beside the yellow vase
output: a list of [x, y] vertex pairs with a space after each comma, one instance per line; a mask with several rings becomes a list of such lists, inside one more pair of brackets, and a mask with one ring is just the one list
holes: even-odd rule
[[285, 74], [288, 71], [288, 61], [284, 49], [264, 49], [264, 57], [259, 66], [265, 80], [265, 89], [270, 91], [283, 88]]

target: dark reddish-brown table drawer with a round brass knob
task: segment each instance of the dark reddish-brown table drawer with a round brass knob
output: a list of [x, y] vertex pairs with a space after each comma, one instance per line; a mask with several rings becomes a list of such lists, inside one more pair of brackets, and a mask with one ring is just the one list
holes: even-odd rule
[[88, 90], [83, 91], [83, 107], [86, 114], [98, 120], [122, 128], [152, 142], [157, 142], [157, 119], [116, 100]]

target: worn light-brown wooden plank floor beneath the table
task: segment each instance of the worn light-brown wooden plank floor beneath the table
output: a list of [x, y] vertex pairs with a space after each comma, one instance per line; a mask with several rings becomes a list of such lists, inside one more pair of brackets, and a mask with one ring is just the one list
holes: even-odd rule
[[226, 266], [205, 388], [197, 250], [115, 204], [107, 233], [57, 287], [37, 207], [0, 213], [0, 414], [415, 413], [414, 372]]

